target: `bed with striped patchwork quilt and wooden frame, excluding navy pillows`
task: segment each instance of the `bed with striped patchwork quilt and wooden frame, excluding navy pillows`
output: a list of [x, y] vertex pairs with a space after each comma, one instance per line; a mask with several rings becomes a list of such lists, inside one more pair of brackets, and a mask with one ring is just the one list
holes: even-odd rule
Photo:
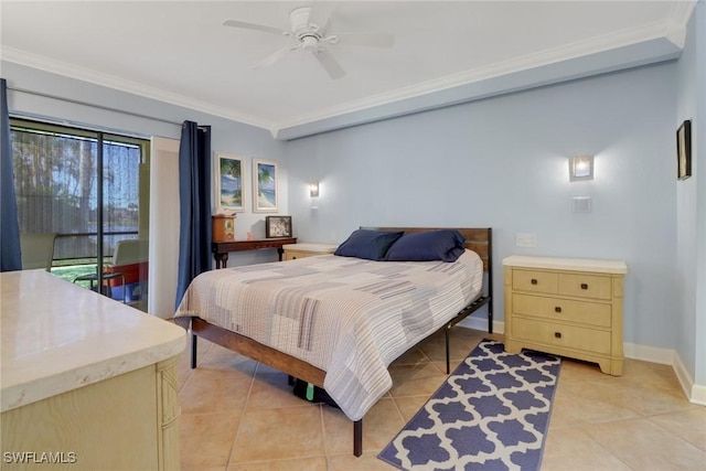
[[353, 420], [353, 452], [360, 456], [363, 416], [392, 387], [389, 363], [446, 329], [448, 372], [449, 330], [483, 306], [492, 332], [491, 229], [450, 231], [462, 236], [454, 261], [322, 255], [200, 275], [175, 313], [191, 332], [192, 368], [201, 336], [324, 388]]

